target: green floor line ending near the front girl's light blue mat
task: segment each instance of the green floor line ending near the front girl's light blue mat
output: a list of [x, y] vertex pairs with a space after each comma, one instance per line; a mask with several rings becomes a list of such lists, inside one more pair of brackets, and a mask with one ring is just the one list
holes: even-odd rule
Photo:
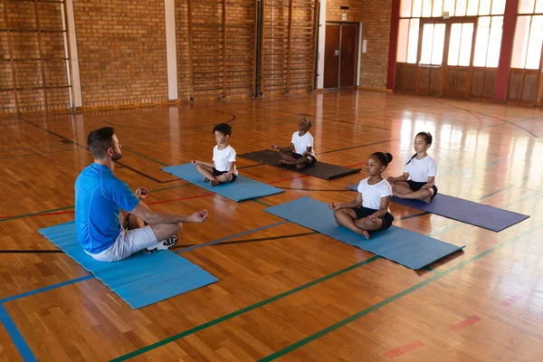
[[285, 292], [283, 292], [281, 294], [278, 294], [278, 295], [276, 295], [274, 297], [271, 297], [271, 298], [269, 298], [267, 300], [262, 300], [262, 301], [260, 301], [258, 303], [250, 305], [249, 307], [245, 307], [242, 310], [236, 310], [233, 313], [229, 313], [229, 314], [224, 315], [223, 317], [219, 317], [217, 319], [210, 320], [210, 321], [208, 321], [208, 322], [206, 322], [204, 324], [200, 324], [199, 326], [196, 326], [195, 328], [187, 329], [186, 331], [178, 333], [175, 336], [168, 337], [166, 339], [162, 339], [162, 340], [158, 341], [157, 343], [153, 343], [152, 345], [149, 345], [148, 347], [139, 348], [139, 349], [137, 349], [137, 350], [135, 350], [133, 352], [130, 352], [129, 354], [117, 357], [115, 359], [111, 359], [111, 362], [113, 362], [113, 361], [125, 361], [125, 360], [127, 360], [129, 358], [139, 356], [139, 355], [141, 355], [143, 353], [146, 353], [146, 352], [148, 352], [148, 351], [150, 351], [152, 349], [155, 349], [155, 348], [164, 346], [167, 343], [173, 342], [176, 339], [184, 338], [184, 337], [189, 336], [191, 334], [194, 334], [194, 333], [196, 333], [196, 332], [198, 332], [200, 330], [207, 329], [209, 327], [213, 327], [214, 325], [219, 324], [221, 322], [224, 322], [225, 320], [233, 319], [234, 317], [242, 315], [243, 313], [246, 313], [248, 311], [256, 310], [257, 308], [263, 307], [266, 304], [270, 304], [273, 301], [281, 300], [282, 298], [288, 297], [289, 295], [294, 294], [297, 291], [303, 291], [304, 289], [310, 288], [313, 285], [319, 284], [322, 281], [328, 281], [329, 279], [337, 277], [338, 275], [341, 275], [341, 274], [343, 274], [345, 272], [352, 271], [353, 269], [357, 269], [358, 267], [366, 265], [366, 264], [368, 264], [370, 262], [375, 262], [378, 259], [380, 259], [379, 256], [374, 256], [373, 258], [369, 258], [364, 262], [357, 262], [356, 264], [353, 264], [353, 265], [351, 265], [351, 266], [349, 266], [349, 267], [347, 267], [345, 269], [341, 269], [340, 271], [332, 272], [331, 274], [325, 275], [324, 277], [316, 279], [315, 281], [310, 281], [309, 283], [300, 285], [300, 287], [291, 289], [291, 291], [285, 291]]

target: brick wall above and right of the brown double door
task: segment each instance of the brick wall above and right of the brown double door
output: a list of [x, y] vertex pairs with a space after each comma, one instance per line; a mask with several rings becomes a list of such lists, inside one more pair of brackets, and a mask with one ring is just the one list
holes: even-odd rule
[[[343, 13], [347, 13], [348, 22], [362, 22], [367, 52], [360, 59], [360, 86], [385, 89], [392, 0], [327, 0], [326, 6], [327, 22], [341, 21]], [[340, 6], [349, 9], [341, 10]]]

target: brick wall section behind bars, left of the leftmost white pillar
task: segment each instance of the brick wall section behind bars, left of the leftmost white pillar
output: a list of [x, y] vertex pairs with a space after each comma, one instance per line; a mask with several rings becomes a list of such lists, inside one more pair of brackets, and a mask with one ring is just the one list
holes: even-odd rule
[[[8, 36], [0, 32], [0, 49], [4, 62], [0, 63], [0, 101], [2, 113], [14, 113], [16, 96], [19, 109], [23, 112], [45, 110], [47, 100], [49, 110], [70, 107], [68, 77], [64, 61], [64, 39], [62, 33], [62, 13], [60, 3], [38, 3], [37, 13], [40, 29], [43, 30], [42, 53], [37, 32], [36, 5], [33, 2], [7, 3], [8, 24], [12, 31], [10, 38], [14, 59], [14, 75], [10, 60]], [[0, 29], [5, 29], [4, 4], [0, 5]], [[43, 65], [42, 65], [43, 64]], [[43, 67], [43, 69], [42, 69]], [[43, 79], [43, 72], [45, 78]], [[47, 87], [43, 90], [43, 87]]]

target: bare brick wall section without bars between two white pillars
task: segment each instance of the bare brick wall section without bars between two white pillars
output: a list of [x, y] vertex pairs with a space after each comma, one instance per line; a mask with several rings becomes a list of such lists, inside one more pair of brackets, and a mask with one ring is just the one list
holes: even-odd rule
[[74, 1], [83, 107], [167, 100], [164, 0]]

